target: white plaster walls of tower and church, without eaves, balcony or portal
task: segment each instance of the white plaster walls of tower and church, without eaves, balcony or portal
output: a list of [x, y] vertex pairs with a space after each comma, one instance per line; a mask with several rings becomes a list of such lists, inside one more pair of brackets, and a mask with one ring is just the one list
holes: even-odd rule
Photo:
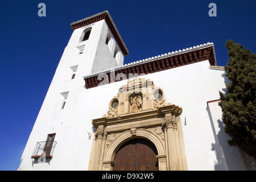
[[[88, 139], [88, 132], [93, 133], [92, 119], [101, 118], [106, 114], [109, 102], [116, 96], [118, 89], [127, 84], [127, 80], [123, 80], [85, 89], [84, 75], [117, 66], [105, 44], [108, 33], [105, 20], [88, 27], [92, 27], [88, 40], [79, 42], [84, 30], [79, 28], [73, 32], [64, 50], [24, 149], [20, 170], [88, 169], [92, 146], [92, 139]], [[82, 54], [79, 54], [77, 46], [82, 44], [85, 44], [85, 49]], [[75, 79], [71, 79], [73, 72], [70, 67], [75, 65], [78, 65], [76, 76]], [[181, 123], [188, 170], [224, 169], [224, 166], [216, 165], [220, 157], [220, 147], [214, 151], [217, 142], [224, 142], [224, 139], [222, 140], [218, 135], [216, 123], [221, 113], [220, 110], [213, 109], [215, 107], [212, 107], [212, 104], [209, 108], [207, 107], [207, 101], [220, 98], [219, 90], [225, 91], [227, 80], [224, 71], [209, 69], [207, 60], [143, 77], [150, 78], [155, 86], [163, 89], [167, 102], [183, 108]], [[63, 92], [69, 93], [65, 107], [61, 109], [64, 101], [61, 95]], [[210, 115], [216, 115], [218, 118]], [[184, 125], [185, 119], [187, 125]], [[56, 133], [57, 142], [52, 160], [49, 164], [33, 162], [31, 155], [36, 142], [45, 141], [47, 134], [52, 133]], [[225, 142], [221, 146], [225, 150]], [[235, 155], [232, 157], [226, 155], [227, 161], [232, 161], [234, 158], [236, 158]], [[230, 163], [230, 165], [233, 164]], [[228, 168], [233, 169], [229, 166]]]

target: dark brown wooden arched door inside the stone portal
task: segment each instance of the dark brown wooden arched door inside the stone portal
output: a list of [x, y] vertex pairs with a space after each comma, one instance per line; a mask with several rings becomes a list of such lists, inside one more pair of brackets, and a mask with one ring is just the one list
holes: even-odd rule
[[129, 140], [115, 154], [113, 171], [158, 171], [156, 155], [156, 147], [150, 141]]

